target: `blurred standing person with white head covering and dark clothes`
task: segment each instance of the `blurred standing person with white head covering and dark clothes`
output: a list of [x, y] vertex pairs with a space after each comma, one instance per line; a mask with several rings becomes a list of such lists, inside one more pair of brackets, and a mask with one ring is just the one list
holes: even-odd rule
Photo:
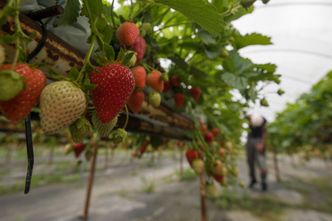
[[267, 190], [267, 164], [266, 164], [266, 131], [267, 121], [264, 117], [251, 114], [249, 115], [249, 133], [246, 144], [247, 163], [249, 168], [250, 183], [249, 188], [253, 188], [257, 183], [256, 169], [257, 164], [261, 177], [261, 188]]

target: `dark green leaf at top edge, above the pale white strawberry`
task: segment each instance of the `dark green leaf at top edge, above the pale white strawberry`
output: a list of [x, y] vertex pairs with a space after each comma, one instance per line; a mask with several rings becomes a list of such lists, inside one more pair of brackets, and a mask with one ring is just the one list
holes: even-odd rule
[[67, 1], [65, 10], [57, 21], [57, 25], [71, 25], [75, 23], [80, 15], [81, 7], [80, 0]]

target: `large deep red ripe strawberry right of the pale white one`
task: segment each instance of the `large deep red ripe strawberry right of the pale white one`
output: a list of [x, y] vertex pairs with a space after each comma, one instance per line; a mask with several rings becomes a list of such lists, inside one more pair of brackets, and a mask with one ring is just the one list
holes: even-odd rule
[[135, 87], [135, 79], [129, 68], [121, 64], [98, 67], [90, 75], [92, 101], [102, 123], [111, 121], [125, 106]]

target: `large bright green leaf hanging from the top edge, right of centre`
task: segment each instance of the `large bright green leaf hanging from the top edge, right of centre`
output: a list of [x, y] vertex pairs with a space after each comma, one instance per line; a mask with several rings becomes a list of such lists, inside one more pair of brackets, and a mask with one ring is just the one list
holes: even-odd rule
[[199, 24], [212, 35], [219, 35], [224, 29], [223, 17], [210, 3], [203, 0], [155, 0], [173, 8]]

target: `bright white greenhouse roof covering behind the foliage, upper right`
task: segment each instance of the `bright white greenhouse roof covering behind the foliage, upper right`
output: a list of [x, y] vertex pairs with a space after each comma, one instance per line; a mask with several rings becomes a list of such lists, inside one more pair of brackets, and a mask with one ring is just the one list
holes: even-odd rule
[[332, 2], [330, 0], [272, 0], [256, 4], [253, 14], [234, 22], [242, 34], [259, 32], [271, 36], [272, 46], [252, 46], [241, 51], [254, 62], [273, 62], [282, 75], [280, 87], [269, 85], [263, 94], [269, 107], [255, 105], [252, 111], [273, 120], [287, 102], [300, 94], [332, 69]]

